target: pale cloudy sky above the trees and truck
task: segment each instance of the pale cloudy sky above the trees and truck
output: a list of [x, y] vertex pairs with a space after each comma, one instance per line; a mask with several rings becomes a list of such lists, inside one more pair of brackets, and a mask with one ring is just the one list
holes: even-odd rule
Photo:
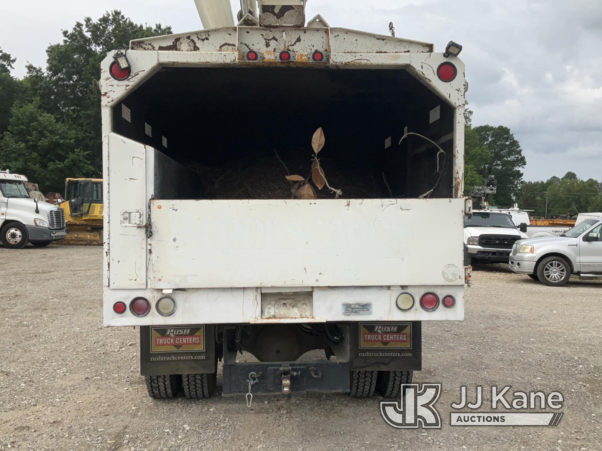
[[[232, 5], [238, 5], [232, 0]], [[45, 49], [84, 16], [120, 9], [135, 22], [193, 31], [193, 0], [0, 2], [0, 46], [45, 65]], [[238, 6], [236, 6], [238, 11]], [[527, 158], [526, 180], [574, 171], [602, 180], [602, 2], [600, 0], [308, 0], [308, 19], [330, 26], [464, 46], [476, 125], [510, 127]]]

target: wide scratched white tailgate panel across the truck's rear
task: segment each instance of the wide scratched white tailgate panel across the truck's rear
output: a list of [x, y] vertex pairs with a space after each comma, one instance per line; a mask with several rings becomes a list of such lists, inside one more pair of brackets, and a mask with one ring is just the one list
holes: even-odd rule
[[151, 286], [461, 285], [463, 209], [462, 199], [153, 200]]

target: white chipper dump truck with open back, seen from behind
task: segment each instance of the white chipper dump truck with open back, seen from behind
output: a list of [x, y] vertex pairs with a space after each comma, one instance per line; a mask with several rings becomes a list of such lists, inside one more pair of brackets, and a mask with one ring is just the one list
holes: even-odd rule
[[[227, 4], [102, 62], [104, 324], [140, 327], [156, 398], [211, 396], [218, 361], [223, 396], [398, 396], [421, 322], [464, 319], [461, 46], [306, 23], [304, 0], [243, 1], [234, 25]], [[281, 168], [228, 197], [191, 171], [311, 165], [318, 127], [326, 172], [352, 162], [373, 193], [254, 194]]]

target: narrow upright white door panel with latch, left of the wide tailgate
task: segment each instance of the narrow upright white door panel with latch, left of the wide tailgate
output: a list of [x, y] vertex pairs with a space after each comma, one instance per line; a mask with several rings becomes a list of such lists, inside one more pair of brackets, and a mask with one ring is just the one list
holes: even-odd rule
[[109, 286], [146, 287], [146, 235], [123, 227], [123, 211], [139, 211], [146, 222], [146, 149], [116, 133], [109, 135]]

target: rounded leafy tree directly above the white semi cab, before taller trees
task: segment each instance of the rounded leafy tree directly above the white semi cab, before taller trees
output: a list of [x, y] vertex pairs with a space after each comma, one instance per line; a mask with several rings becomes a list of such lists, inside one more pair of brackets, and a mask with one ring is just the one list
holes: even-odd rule
[[3, 169], [26, 174], [43, 191], [62, 191], [74, 174], [90, 176], [90, 151], [77, 147], [78, 130], [40, 108], [39, 100], [15, 103], [8, 130], [0, 140]]

